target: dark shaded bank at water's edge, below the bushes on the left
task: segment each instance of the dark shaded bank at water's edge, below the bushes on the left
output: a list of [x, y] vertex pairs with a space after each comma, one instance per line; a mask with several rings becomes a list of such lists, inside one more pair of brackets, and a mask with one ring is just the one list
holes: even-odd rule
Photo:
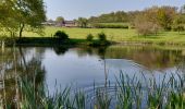
[[[20, 38], [3, 38], [3, 44], [8, 47], [12, 47], [14, 44], [16, 46], [24, 46], [24, 47], [75, 47], [75, 46], [90, 46], [90, 47], [101, 47], [101, 46], [110, 46], [111, 43], [108, 40], [86, 40], [86, 39], [59, 39], [55, 37], [22, 37]], [[0, 38], [0, 45], [1, 45], [1, 38]]]

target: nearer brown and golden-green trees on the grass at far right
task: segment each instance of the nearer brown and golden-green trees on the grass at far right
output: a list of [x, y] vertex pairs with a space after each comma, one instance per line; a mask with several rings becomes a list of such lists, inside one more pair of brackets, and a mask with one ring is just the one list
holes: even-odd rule
[[152, 7], [140, 11], [131, 23], [141, 35], [157, 34], [159, 31], [182, 32], [185, 29], [185, 7], [181, 10], [175, 7]]

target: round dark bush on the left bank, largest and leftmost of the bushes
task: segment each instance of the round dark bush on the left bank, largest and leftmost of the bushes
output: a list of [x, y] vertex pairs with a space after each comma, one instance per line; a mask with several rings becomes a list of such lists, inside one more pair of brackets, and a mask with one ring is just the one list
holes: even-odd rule
[[69, 35], [67, 35], [65, 32], [63, 32], [63, 31], [58, 31], [58, 32], [55, 32], [54, 37], [55, 37], [55, 38], [59, 38], [59, 39], [61, 39], [61, 40], [66, 40], [66, 39], [69, 39]]

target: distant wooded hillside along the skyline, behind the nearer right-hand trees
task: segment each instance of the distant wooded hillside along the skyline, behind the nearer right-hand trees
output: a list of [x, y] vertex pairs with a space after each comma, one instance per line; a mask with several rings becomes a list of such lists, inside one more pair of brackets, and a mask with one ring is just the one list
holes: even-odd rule
[[[183, 5], [181, 8], [164, 5], [164, 7], [152, 7], [152, 8], [145, 9], [143, 11], [111, 12], [111, 13], [107, 13], [107, 14], [101, 14], [99, 16], [91, 16], [90, 19], [88, 19], [88, 22], [89, 23], [133, 22], [137, 15], [143, 14], [146, 11], [156, 11], [157, 12], [157, 11], [159, 11], [158, 9], [160, 9], [160, 11], [161, 10], [166, 11], [166, 14], [171, 14], [171, 15], [174, 15], [173, 13], [185, 13], [185, 5]], [[156, 14], [151, 14], [151, 15], [155, 16]]]

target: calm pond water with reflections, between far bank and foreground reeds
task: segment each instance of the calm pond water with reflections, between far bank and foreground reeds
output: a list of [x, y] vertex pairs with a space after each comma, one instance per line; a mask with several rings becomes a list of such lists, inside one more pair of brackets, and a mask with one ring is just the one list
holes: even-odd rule
[[[15, 78], [27, 76], [47, 85], [50, 94], [55, 88], [71, 86], [72, 90], [84, 89], [92, 96], [95, 86], [116, 84], [120, 73], [128, 77], [143, 74], [155, 77], [158, 84], [164, 75], [183, 72], [185, 48], [155, 46], [90, 47], [16, 47], [0, 50], [0, 94], [7, 93], [8, 101], [15, 97]], [[16, 76], [15, 76], [16, 75]], [[4, 85], [3, 81], [4, 80]], [[145, 84], [145, 82], [144, 82]]]

